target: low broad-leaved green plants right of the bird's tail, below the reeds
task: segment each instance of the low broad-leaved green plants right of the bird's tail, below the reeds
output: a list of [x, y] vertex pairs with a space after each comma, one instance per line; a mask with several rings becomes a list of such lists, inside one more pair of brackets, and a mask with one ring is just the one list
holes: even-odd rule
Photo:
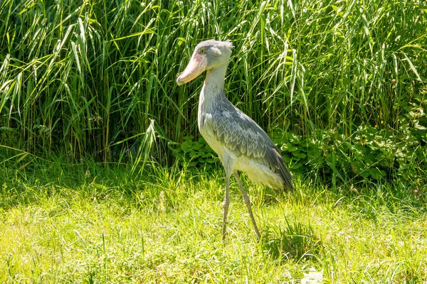
[[317, 130], [315, 136], [277, 133], [273, 140], [295, 175], [322, 175], [337, 180], [391, 180], [399, 177], [410, 187], [425, 188], [427, 116], [426, 92], [405, 103], [397, 129], [359, 126], [352, 136]]

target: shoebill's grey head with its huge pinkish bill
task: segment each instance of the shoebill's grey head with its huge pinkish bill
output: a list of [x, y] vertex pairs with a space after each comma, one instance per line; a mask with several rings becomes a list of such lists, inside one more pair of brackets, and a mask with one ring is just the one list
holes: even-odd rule
[[176, 84], [185, 84], [195, 79], [202, 72], [220, 66], [227, 66], [233, 45], [230, 40], [205, 40], [194, 49], [189, 65], [176, 79]]

